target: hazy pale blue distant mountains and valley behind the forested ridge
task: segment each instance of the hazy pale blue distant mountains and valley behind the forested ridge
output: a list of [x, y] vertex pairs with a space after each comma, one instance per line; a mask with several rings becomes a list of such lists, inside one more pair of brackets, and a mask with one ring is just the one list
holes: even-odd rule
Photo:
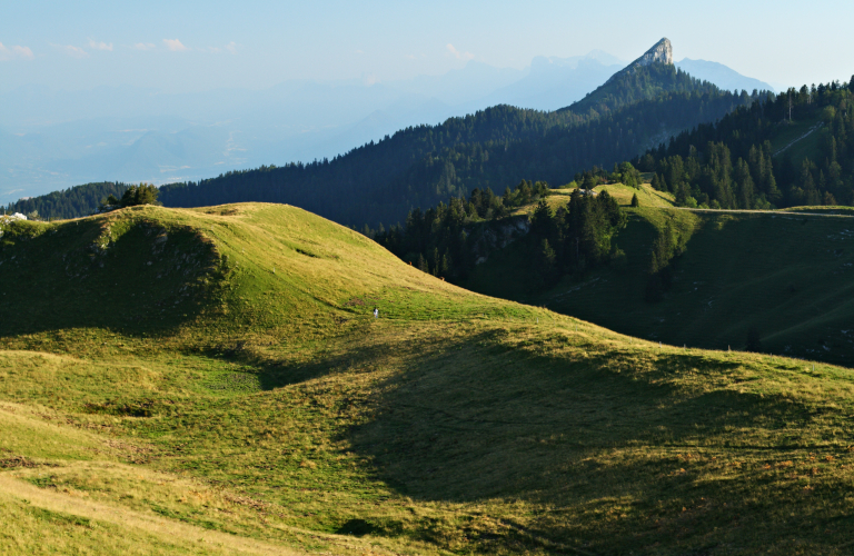
[[[331, 158], [409, 126], [496, 105], [556, 110], [624, 67], [594, 50], [538, 57], [524, 70], [470, 61], [443, 76], [373, 85], [287, 81], [261, 91], [193, 95], [21, 88], [0, 95], [2, 106], [16, 107], [0, 113], [0, 202], [89, 181], [161, 185]], [[714, 62], [683, 60], [677, 67], [727, 90], [769, 89]]]

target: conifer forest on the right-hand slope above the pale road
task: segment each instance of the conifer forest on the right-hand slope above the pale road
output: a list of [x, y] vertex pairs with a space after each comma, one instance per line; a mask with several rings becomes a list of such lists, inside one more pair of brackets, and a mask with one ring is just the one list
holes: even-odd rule
[[853, 95], [854, 78], [769, 95], [634, 162], [685, 207], [854, 205]]

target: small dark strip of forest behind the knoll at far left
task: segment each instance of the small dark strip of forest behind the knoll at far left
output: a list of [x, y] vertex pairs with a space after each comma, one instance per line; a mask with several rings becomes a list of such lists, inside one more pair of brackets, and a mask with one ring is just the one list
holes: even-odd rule
[[109, 196], [121, 198], [129, 186], [113, 181], [86, 183], [39, 197], [9, 203], [6, 211], [21, 212], [29, 218], [78, 218], [95, 212], [101, 200]]

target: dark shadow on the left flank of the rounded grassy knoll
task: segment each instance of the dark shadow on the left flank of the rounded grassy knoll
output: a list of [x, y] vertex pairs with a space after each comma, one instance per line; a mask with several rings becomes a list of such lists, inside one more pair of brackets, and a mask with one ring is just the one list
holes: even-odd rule
[[214, 247], [145, 219], [70, 221], [0, 246], [0, 338], [72, 328], [168, 334], [203, 308]]

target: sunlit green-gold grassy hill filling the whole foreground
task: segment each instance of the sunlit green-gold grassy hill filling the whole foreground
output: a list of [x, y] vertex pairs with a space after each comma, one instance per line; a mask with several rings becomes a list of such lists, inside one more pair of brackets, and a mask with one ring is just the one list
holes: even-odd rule
[[0, 241], [4, 554], [850, 550], [846, 369], [471, 294], [286, 206]]

